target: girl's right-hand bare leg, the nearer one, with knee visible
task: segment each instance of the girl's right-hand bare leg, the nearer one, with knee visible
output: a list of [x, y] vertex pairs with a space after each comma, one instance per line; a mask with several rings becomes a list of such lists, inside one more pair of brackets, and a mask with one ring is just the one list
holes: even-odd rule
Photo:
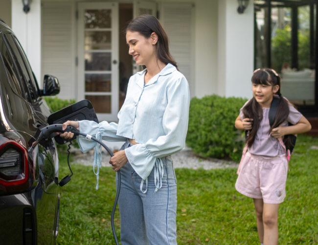
[[264, 203], [264, 245], [278, 244], [278, 208], [279, 204]]

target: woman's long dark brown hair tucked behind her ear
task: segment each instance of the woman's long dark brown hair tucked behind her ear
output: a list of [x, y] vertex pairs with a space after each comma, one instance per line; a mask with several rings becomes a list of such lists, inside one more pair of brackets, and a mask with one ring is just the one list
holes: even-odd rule
[[136, 19], [132, 20], [127, 28], [127, 31], [137, 31], [145, 38], [149, 38], [151, 33], [155, 32], [158, 35], [158, 42], [156, 43], [156, 54], [158, 59], [164, 64], [172, 64], [177, 69], [177, 63], [172, 58], [169, 52], [168, 36], [164, 31], [159, 20], [153, 15], [140, 15]]

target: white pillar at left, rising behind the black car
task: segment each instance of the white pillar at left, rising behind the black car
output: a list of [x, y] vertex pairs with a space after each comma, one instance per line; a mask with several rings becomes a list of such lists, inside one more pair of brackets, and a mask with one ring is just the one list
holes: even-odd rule
[[41, 0], [32, 0], [27, 14], [23, 12], [22, 0], [12, 0], [11, 4], [12, 30], [28, 57], [39, 86], [42, 86]]

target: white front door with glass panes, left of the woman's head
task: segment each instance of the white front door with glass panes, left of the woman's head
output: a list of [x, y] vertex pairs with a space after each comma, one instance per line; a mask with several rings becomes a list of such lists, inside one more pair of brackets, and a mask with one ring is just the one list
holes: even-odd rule
[[117, 121], [118, 38], [118, 3], [78, 3], [78, 100], [99, 121]]

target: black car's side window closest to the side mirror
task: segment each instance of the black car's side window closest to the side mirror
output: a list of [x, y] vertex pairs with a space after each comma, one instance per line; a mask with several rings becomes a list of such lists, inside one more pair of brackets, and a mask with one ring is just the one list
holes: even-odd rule
[[23, 85], [26, 86], [26, 89], [29, 92], [30, 102], [35, 102], [39, 97], [39, 93], [35, 85], [34, 78], [30, 76], [28, 72], [28, 62], [25, 60], [24, 52], [11, 34], [5, 34], [5, 39], [7, 40], [7, 43], [13, 53], [13, 57], [16, 60], [20, 78], [24, 81]]

